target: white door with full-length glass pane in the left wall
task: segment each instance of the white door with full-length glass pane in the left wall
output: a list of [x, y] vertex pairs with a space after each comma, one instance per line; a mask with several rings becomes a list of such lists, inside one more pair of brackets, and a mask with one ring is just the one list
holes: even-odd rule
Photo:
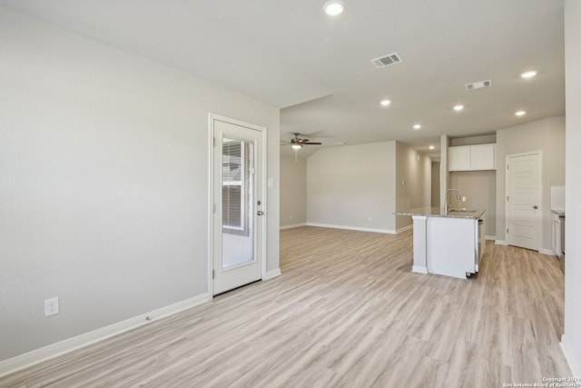
[[264, 131], [212, 116], [212, 293], [262, 278]]

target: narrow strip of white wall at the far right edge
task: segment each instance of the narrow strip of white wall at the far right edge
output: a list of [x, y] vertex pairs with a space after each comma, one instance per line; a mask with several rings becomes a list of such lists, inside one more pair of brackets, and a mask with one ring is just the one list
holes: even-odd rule
[[581, 376], [581, 3], [565, 3], [566, 269], [563, 344], [573, 375]]

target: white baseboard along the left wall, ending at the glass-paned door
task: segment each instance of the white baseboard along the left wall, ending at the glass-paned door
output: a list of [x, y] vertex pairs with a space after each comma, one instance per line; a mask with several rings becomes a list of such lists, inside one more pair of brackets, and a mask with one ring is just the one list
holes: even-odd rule
[[6, 374], [15, 373], [36, 363], [42, 363], [46, 360], [58, 357], [64, 353], [73, 352], [74, 350], [80, 349], [92, 343], [103, 341], [106, 338], [113, 337], [113, 335], [128, 332], [136, 327], [157, 321], [174, 313], [180, 313], [183, 310], [187, 310], [193, 306], [197, 306], [198, 304], [202, 304], [211, 300], [212, 296], [209, 293], [202, 293], [201, 295], [194, 296], [190, 299], [186, 299], [185, 301], [173, 303], [169, 306], [164, 306], [160, 309], [153, 310], [152, 312], [143, 313], [125, 321], [104, 326], [92, 332], [77, 335], [72, 338], [67, 338], [66, 340], [60, 341], [58, 343], [51, 343], [50, 345], [35, 349], [32, 352], [17, 355], [13, 358], [9, 358], [0, 362], [0, 377], [5, 376]]

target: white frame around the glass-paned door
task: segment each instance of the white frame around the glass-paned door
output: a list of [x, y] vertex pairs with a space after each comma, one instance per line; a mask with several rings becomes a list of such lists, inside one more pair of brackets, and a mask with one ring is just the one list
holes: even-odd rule
[[222, 121], [229, 124], [240, 125], [247, 128], [254, 129], [259, 131], [262, 136], [262, 145], [260, 152], [262, 153], [261, 158], [261, 166], [262, 169], [262, 182], [259, 186], [259, 191], [261, 193], [261, 201], [262, 201], [262, 209], [264, 209], [264, 216], [260, 217], [262, 222], [261, 228], [261, 245], [257, 246], [256, 249], [261, 251], [261, 278], [264, 280], [266, 275], [266, 231], [268, 227], [268, 214], [266, 212], [267, 207], [267, 187], [266, 187], [266, 176], [267, 175], [267, 131], [266, 128], [256, 124], [245, 123], [240, 120], [232, 119], [230, 117], [225, 117], [219, 114], [208, 114], [208, 294], [213, 298], [213, 277], [212, 277], [212, 270], [213, 270], [213, 231], [214, 231], [214, 177], [213, 177], [213, 170], [214, 170], [214, 121]]

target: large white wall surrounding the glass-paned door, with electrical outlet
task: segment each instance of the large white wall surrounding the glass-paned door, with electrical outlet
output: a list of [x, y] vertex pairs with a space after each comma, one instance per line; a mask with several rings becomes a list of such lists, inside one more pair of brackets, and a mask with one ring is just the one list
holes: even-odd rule
[[278, 109], [3, 7], [0, 36], [0, 361], [207, 292], [210, 112], [269, 130], [278, 269]]

